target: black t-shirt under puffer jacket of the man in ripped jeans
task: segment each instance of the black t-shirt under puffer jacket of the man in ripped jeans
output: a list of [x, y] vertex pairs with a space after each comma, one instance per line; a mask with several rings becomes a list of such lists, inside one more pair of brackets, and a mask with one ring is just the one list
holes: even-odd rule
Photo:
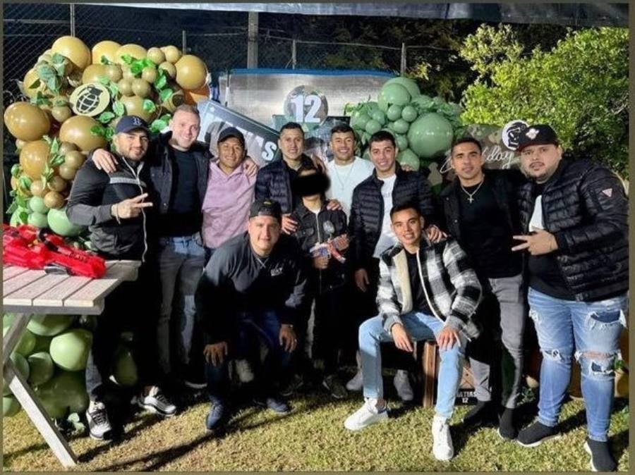
[[[546, 183], [541, 183], [534, 187], [534, 203], [536, 203], [536, 199], [543, 194], [545, 185]], [[529, 231], [531, 232], [531, 229]], [[543, 254], [542, 256], [529, 256], [529, 285], [531, 288], [538, 290], [538, 292], [543, 292], [543, 294], [549, 295], [550, 297], [562, 300], [575, 300], [575, 295], [569, 290], [567, 283], [564, 281], [556, 253], [557, 251]]]

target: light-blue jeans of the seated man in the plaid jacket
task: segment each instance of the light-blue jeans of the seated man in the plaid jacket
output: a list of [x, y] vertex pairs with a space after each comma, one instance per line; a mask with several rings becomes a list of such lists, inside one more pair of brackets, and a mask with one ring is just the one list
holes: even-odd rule
[[[415, 341], [435, 340], [444, 323], [434, 316], [411, 311], [401, 315], [401, 321]], [[364, 381], [364, 397], [380, 399], [383, 397], [382, 354], [380, 343], [392, 342], [392, 335], [384, 330], [382, 317], [374, 316], [359, 327], [359, 351]], [[449, 419], [454, 412], [456, 391], [459, 390], [463, 374], [463, 359], [467, 340], [461, 335], [461, 345], [454, 345], [449, 350], [439, 350], [441, 365], [437, 383], [437, 404], [435, 411]]]

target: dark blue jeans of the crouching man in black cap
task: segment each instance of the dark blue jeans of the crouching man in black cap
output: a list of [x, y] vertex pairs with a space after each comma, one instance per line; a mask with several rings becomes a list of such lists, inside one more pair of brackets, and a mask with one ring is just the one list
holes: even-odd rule
[[[280, 319], [275, 311], [238, 312], [236, 331], [227, 342], [227, 356], [222, 364], [205, 363], [207, 394], [211, 402], [226, 400], [229, 395], [227, 366], [232, 359], [248, 359], [254, 367], [253, 391], [256, 397], [276, 395], [276, 386], [291, 366], [291, 352], [280, 345]], [[260, 364], [260, 341], [267, 346], [267, 356]]]

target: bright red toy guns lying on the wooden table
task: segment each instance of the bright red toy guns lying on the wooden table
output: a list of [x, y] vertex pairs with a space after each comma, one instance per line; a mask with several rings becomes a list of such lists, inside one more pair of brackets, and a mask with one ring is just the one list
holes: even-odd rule
[[2, 257], [6, 264], [90, 278], [100, 278], [106, 273], [104, 259], [67, 245], [59, 235], [25, 224], [17, 227], [3, 224], [3, 230]]

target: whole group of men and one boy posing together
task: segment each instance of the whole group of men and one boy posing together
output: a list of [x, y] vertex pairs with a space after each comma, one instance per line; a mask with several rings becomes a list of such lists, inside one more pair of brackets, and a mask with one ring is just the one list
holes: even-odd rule
[[[562, 160], [552, 128], [532, 125], [519, 144], [522, 174], [485, 170], [480, 143], [456, 140], [456, 178], [439, 203], [423, 175], [396, 161], [389, 132], [370, 137], [367, 161], [355, 156], [353, 130], [337, 125], [334, 159], [322, 164], [303, 154], [303, 130], [288, 123], [282, 159], [258, 170], [240, 131], [222, 130], [215, 159], [196, 142], [199, 127], [191, 106], [179, 107], [170, 132], [155, 138], [140, 118], [125, 116], [116, 152], [92, 152], [73, 183], [68, 216], [90, 227], [99, 253], [142, 261], [138, 280], [110, 295], [98, 317], [86, 369], [91, 436], [113, 429], [104, 395], [125, 325], [134, 329], [135, 402], [170, 417], [177, 408], [166, 393], [175, 381], [204, 385], [210, 431], [226, 427], [235, 409], [231, 361], [253, 402], [279, 414], [291, 410], [286, 396], [306, 383], [307, 364], [320, 366], [333, 397], [363, 390], [363, 406], [344, 422], [354, 431], [388, 418], [381, 343], [412, 354], [416, 341], [436, 340], [437, 459], [454, 456], [449, 419], [465, 357], [478, 404], [464, 422], [494, 420], [502, 438], [525, 446], [559, 435], [575, 357], [586, 450], [593, 469], [615, 469], [607, 431], [628, 244], [627, 202], [614, 174]], [[543, 363], [538, 419], [519, 432], [526, 300]], [[359, 369], [344, 385], [341, 353], [355, 346], [346, 328], [358, 333]], [[502, 357], [492, 352], [497, 342]], [[394, 383], [412, 399], [406, 371]]]

